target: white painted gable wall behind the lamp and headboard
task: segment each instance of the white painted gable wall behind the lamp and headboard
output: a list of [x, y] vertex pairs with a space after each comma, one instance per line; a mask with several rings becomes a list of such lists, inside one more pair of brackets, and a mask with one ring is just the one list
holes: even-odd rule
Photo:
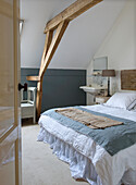
[[[121, 89], [120, 71], [136, 69], [136, 1], [126, 2], [113, 27], [97, 50], [94, 58], [108, 55], [109, 69], [116, 71], [111, 81], [112, 92]], [[87, 84], [90, 84], [92, 61], [87, 69]], [[89, 99], [88, 99], [89, 101]]]

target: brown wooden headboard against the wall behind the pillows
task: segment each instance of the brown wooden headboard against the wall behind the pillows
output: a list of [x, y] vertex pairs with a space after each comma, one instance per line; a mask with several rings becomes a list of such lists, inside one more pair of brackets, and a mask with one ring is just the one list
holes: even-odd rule
[[121, 71], [121, 89], [136, 90], [136, 70]]

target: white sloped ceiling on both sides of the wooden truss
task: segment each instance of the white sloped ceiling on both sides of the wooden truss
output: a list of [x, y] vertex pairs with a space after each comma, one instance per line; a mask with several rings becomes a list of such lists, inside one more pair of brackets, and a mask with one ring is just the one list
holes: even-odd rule
[[[21, 66], [39, 67], [46, 23], [74, 0], [22, 0]], [[50, 69], [87, 69], [113, 26], [125, 0], [104, 0], [72, 21], [49, 65]]]

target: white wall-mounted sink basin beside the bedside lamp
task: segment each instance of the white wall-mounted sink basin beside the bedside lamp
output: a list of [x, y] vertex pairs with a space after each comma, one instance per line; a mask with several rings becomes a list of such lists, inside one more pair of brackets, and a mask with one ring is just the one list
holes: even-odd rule
[[100, 90], [107, 89], [106, 87], [96, 86], [96, 87], [89, 87], [89, 86], [81, 86], [81, 89], [83, 89], [85, 92], [97, 95], [100, 92]]

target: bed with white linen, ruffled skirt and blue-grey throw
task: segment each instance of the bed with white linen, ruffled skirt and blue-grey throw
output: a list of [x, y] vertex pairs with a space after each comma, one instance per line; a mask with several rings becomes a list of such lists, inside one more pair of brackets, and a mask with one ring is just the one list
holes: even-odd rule
[[[64, 115], [57, 112], [60, 109], [52, 109], [46, 111], [39, 119], [38, 140], [48, 143], [53, 149], [53, 153], [70, 164], [74, 178], [83, 178], [91, 185], [120, 185], [122, 183], [135, 185], [136, 92], [116, 92], [104, 104], [74, 107], [74, 109], [94, 113], [96, 116], [107, 116], [120, 123], [95, 130], [84, 125], [82, 130], [77, 131], [65, 125], [66, 122], [69, 124], [70, 118], [63, 120]], [[77, 121], [72, 122], [77, 123]], [[126, 125], [127, 127], [124, 130]], [[88, 132], [90, 135], [84, 134], [86, 127], [87, 131], [91, 131]], [[120, 131], [119, 138], [115, 131]], [[99, 133], [102, 133], [103, 137], [100, 138]], [[99, 140], [107, 138], [108, 133], [111, 133], [109, 137], [114, 138], [112, 141]]]

